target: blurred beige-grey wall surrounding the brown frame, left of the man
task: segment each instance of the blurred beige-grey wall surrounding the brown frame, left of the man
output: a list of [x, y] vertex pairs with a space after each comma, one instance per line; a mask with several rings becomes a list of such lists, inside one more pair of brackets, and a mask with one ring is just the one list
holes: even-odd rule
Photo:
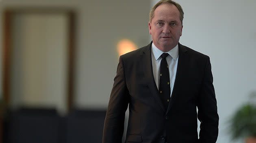
[[[0, 13], [7, 7], [27, 6], [68, 7], [76, 11], [74, 102], [82, 108], [105, 108], [118, 63], [117, 42], [122, 38], [128, 38], [138, 46], [150, 42], [147, 27], [150, 1], [3, 0], [0, 2]], [[2, 18], [0, 15], [1, 34]], [[2, 38], [0, 35], [1, 48]], [[2, 58], [0, 62], [2, 65]], [[2, 76], [2, 68], [0, 74]], [[2, 87], [2, 83], [0, 85]]]

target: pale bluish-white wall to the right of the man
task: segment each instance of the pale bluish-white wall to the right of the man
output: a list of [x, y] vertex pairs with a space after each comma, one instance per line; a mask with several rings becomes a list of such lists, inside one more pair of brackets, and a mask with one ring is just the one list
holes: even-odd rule
[[256, 90], [256, 1], [176, 2], [184, 10], [180, 43], [210, 57], [220, 119], [217, 143], [234, 143], [228, 120]]

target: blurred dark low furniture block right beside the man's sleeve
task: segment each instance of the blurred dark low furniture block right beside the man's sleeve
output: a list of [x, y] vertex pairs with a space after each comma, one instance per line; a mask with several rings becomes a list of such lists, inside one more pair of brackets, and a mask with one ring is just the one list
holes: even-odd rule
[[67, 116], [67, 143], [102, 143], [106, 110], [74, 110]]

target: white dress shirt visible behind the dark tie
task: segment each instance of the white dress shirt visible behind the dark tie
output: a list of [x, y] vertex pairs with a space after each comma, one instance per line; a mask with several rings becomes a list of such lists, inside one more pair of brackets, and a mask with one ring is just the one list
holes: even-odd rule
[[[162, 57], [161, 55], [165, 52], [159, 50], [156, 48], [154, 43], [152, 43], [152, 48], [151, 48], [151, 57], [152, 57], [152, 69], [153, 69], [153, 74], [154, 74], [154, 79], [156, 82], [156, 86], [159, 89], [159, 80], [160, 80], [160, 64]], [[178, 44], [169, 50], [168, 52], [169, 55], [166, 57], [166, 61], [169, 67], [169, 77], [170, 77], [170, 88], [171, 88], [171, 93], [174, 89], [174, 81], [176, 78], [176, 72], [177, 72], [177, 67], [178, 67], [178, 59], [179, 59], [179, 48]], [[171, 97], [171, 95], [170, 95]]]

